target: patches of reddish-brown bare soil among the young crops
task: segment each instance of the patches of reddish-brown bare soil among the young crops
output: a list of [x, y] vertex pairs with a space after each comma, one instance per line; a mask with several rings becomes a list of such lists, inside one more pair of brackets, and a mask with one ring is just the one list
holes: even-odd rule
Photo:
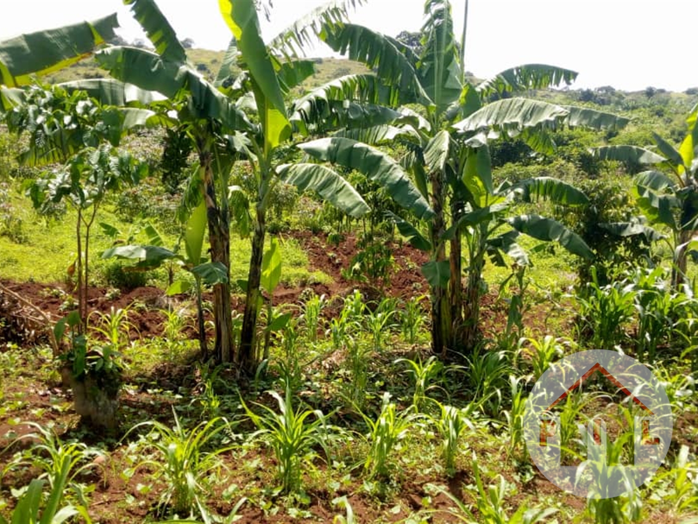
[[[369, 284], [350, 282], [341, 275], [341, 270], [348, 266], [350, 259], [356, 253], [356, 238], [350, 236], [339, 245], [328, 245], [327, 237], [322, 233], [315, 235], [299, 232], [294, 233], [293, 237], [308, 254], [311, 270], [327, 273], [332, 277], [333, 282], [294, 287], [279, 286], [274, 293], [275, 305], [283, 303], [298, 305], [302, 293], [307, 293], [308, 289], [318, 294], [325, 294], [328, 298], [348, 296], [353, 289], [360, 289], [369, 299], [379, 298], [381, 294], [406, 299], [428, 293], [424, 277], [419, 272], [419, 266], [426, 262], [427, 256], [408, 245], [392, 243], [394, 270], [389, 282], [383, 283], [378, 290]], [[36, 309], [50, 316], [53, 321], [65, 314], [66, 298], [73, 294], [73, 290], [66, 288], [65, 284], [10, 281], [3, 281], [2, 284], [33, 304]], [[6, 306], [12, 306], [12, 300], [6, 300]], [[244, 298], [233, 297], [232, 306], [241, 311]], [[43, 425], [50, 423], [64, 440], [74, 438], [107, 450], [103, 460], [94, 463], [94, 467], [80, 476], [81, 482], [96, 486], [94, 493], [91, 494], [89, 505], [89, 512], [94, 521], [102, 524], [121, 524], [142, 522], [144, 519], [156, 520], [158, 513], [161, 513], [159, 511], [161, 508], [158, 509], [158, 497], [164, 486], [163, 481], [152, 479], [149, 467], [139, 467], [130, 477], [124, 475], [124, 472], [133, 467], [128, 457], [126, 443], [137, 438], [135, 433], [126, 434], [124, 429], [133, 426], [134, 423], [148, 420], [172, 424], [172, 407], [177, 405], [177, 402], [182, 402], [181, 397], [177, 399], [177, 395], [182, 391], [195, 391], [195, 388], [201, 386], [193, 365], [162, 363], [147, 376], [136, 377], [135, 384], [124, 388], [121, 392], [123, 428], [112, 433], [96, 432], [81, 425], [80, 418], [75, 414], [70, 403], [72, 399], [70, 391], [64, 391], [60, 387], [57, 374], [51, 375], [50, 370], [55, 368], [54, 363], [48, 358], [42, 360], [32, 353], [31, 347], [42, 340], [45, 342], [45, 334], [40, 333], [36, 323], [30, 322], [21, 329], [16, 327], [22, 325], [23, 317], [35, 316], [35, 312], [32, 312], [29, 307], [16, 303], [14, 307], [14, 311], [0, 310], [0, 316], [13, 315], [12, 321], [6, 321], [3, 324], [6, 327], [12, 327], [0, 328], [0, 342], [14, 342], [26, 348], [27, 352], [15, 363], [13, 373], [6, 373], [11, 374], [12, 379], [6, 380], [3, 384], [4, 399], [0, 406], [4, 409], [0, 412], [0, 449], [4, 451], [0, 453], [0, 467], [8, 463], [13, 453], [31, 446], [31, 439], [17, 440], [34, 430], [31, 426], [22, 423], [23, 421], [35, 421]], [[161, 289], [143, 287], [122, 293], [118, 298], [109, 300], [107, 289], [94, 287], [89, 290], [89, 307], [91, 311], [102, 313], [109, 312], [112, 307], [130, 307], [128, 319], [135, 326], [131, 336], [134, 338], [158, 337], [163, 334], [165, 316], [161, 310], [168, 307], [168, 298], [164, 296]], [[328, 308], [329, 314], [333, 311], [336, 312], [336, 309]], [[564, 325], [565, 314], [556, 310], [551, 303], [534, 304], [526, 316], [527, 326], [534, 332], [547, 333], [551, 325]], [[498, 300], [495, 292], [492, 291], [482, 299], [485, 336], [500, 333], [505, 326], [506, 318], [506, 304]], [[551, 319], [554, 324], [551, 324]], [[187, 334], [191, 338], [195, 337], [193, 330]], [[332, 358], [333, 356], [329, 356], [323, 365], [332, 366]], [[45, 379], [47, 375], [54, 376], [54, 381], [47, 383]], [[232, 376], [224, 378], [234, 379]], [[186, 393], [184, 397], [186, 398]], [[695, 421], [686, 422], [693, 424]], [[690, 444], [695, 446], [695, 442]], [[473, 442], [472, 445], [478, 444]], [[506, 453], [502, 449], [491, 449], [485, 453], [496, 453], [500, 455], [503, 462], [507, 460]], [[327, 483], [329, 472], [326, 466], [319, 462], [316, 465], [317, 470], [305, 479], [308, 486], [306, 494], [310, 502], [292, 504], [307, 512], [306, 516], [290, 518], [283, 509], [278, 514], [274, 514], [273, 509], [262, 509], [267, 507], [264, 504], [264, 497], [260, 494], [274, 485], [272, 475], [275, 460], [269, 450], [240, 449], [226, 453], [222, 458], [228, 470], [224, 474], [226, 484], [214, 488], [216, 496], [212, 497], [208, 504], [218, 514], [229, 514], [240, 495], [232, 497], [230, 502], [225, 502], [222, 493], [233, 483], [239, 486], [240, 492], [244, 495], [257, 493], [258, 495], [251, 497], [240, 510], [240, 518], [237, 522], [244, 524], [291, 521], [329, 523], [333, 521], [334, 516], [344, 514], [343, 510], [332, 504], [332, 500], [342, 495], [346, 495], [357, 522], [361, 523], [404, 521], [410, 512], [424, 509], [433, 510], [430, 522], [458, 522], [456, 517], [445, 511], [452, 508], [453, 503], [445, 495], [435, 495], [431, 492], [427, 488], [429, 483], [447, 486], [454, 495], [465, 497], [468, 504], [475, 502], [475, 500], [469, 500], [463, 490], [463, 486], [475, 482], [466, 459], [459, 464], [459, 470], [452, 478], [447, 478], [443, 474], [429, 473], [415, 476], [396, 472], [396, 478], [391, 481], [393, 486], [390, 488], [388, 500], [381, 500], [376, 495], [366, 493], [360, 471], [352, 474], [351, 479], [339, 488], [330, 488]], [[429, 465], [425, 465], [427, 466]], [[0, 481], [0, 496], [5, 500], [13, 500], [9, 490], [26, 485], [36, 474], [38, 471], [32, 468], [6, 474]], [[508, 481], [514, 481], [512, 472], [505, 473], [505, 476]], [[151, 486], [149, 493], [143, 493], [142, 486]], [[520, 502], [551, 494], [550, 483], [540, 474], [536, 474], [532, 481], [519, 488], [520, 494], [517, 497], [520, 498]], [[290, 504], [288, 500], [274, 495], [264, 496], [273, 502], [269, 508], [286, 507], [288, 509]], [[565, 504], [578, 508], [580, 512], [583, 511], [585, 502], [571, 495], [565, 498]]]

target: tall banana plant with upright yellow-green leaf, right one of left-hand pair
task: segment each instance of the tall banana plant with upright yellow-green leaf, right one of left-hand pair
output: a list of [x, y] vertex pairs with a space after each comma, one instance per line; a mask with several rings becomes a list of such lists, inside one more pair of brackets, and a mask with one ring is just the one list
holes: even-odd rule
[[[260, 36], [260, 27], [251, 0], [222, 0], [221, 14], [235, 37], [235, 48], [229, 50], [225, 62], [231, 62], [237, 54], [245, 69], [235, 79], [223, 79], [221, 87], [239, 95], [238, 103], [245, 104], [256, 111], [258, 124], [246, 133], [248, 143], [242, 154], [252, 168], [257, 182], [257, 194], [250, 198], [255, 212], [252, 236], [252, 256], [247, 279], [247, 298], [242, 323], [242, 335], [239, 361], [243, 367], [252, 370], [255, 364], [255, 330], [260, 303], [260, 284], [262, 284], [262, 250], [266, 234], [266, 212], [269, 195], [273, 187], [281, 182], [294, 184], [300, 190], [312, 189], [322, 198], [336, 205], [352, 217], [360, 217], [369, 210], [357, 191], [334, 170], [318, 163], [288, 163], [283, 159], [284, 148], [290, 145], [293, 131], [307, 136], [317, 129], [346, 126], [351, 122], [365, 123], [385, 122], [396, 117], [396, 112], [385, 110], [377, 114], [371, 110], [360, 110], [351, 105], [342, 106], [341, 112], [329, 111], [315, 114], [299, 112], [300, 103], [293, 103], [287, 108], [284, 94], [288, 88], [296, 85], [311, 73], [306, 61], [281, 62], [282, 53], [277, 52], [276, 45], [288, 38], [295, 42], [304, 42], [308, 35], [304, 22], [295, 24], [279, 38], [272, 41], [267, 48]], [[339, 4], [337, 4], [339, 5]], [[339, 10], [338, 10], [339, 9]], [[346, 15], [346, 7], [330, 7], [316, 11], [309, 20], [321, 20], [323, 23], [340, 23]], [[311, 24], [313, 22], [310, 22]], [[319, 27], [316, 24], [315, 27]], [[286, 57], [288, 58], [288, 54]], [[225, 87], [225, 86], [229, 87]], [[354, 110], [358, 109], [358, 110]], [[395, 162], [383, 152], [354, 140], [329, 140], [323, 143], [307, 143], [302, 146], [305, 152], [317, 150], [329, 156], [346, 159], [353, 168], [362, 171], [371, 180], [385, 187], [399, 204], [406, 208], [417, 208], [422, 214], [429, 213], [429, 205], [418, 194], [409, 177]]]

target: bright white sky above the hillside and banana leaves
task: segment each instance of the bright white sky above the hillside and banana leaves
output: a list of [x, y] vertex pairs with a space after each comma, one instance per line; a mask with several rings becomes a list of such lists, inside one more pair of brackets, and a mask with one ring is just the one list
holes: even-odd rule
[[[119, 0], [2, 0], [0, 39], [91, 20], [116, 11], [120, 34], [142, 36]], [[320, 0], [273, 0], [271, 38]], [[418, 31], [422, 0], [369, 0], [352, 22], [395, 36]], [[223, 50], [230, 40], [216, 0], [159, 0], [180, 39], [195, 47]], [[463, 0], [452, 0], [456, 34], [463, 27]], [[612, 85], [637, 91], [648, 86], [684, 91], [698, 87], [695, 49], [697, 0], [470, 0], [466, 69], [488, 77], [526, 63], [563, 66], [579, 72], [572, 87]], [[330, 56], [318, 44], [309, 56]]]

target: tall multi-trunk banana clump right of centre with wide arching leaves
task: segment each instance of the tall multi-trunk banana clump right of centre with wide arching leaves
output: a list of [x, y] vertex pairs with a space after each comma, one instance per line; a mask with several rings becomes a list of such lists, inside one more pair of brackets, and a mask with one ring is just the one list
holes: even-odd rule
[[[468, 259], [469, 279], [463, 292], [461, 243], [463, 238], [473, 241], [475, 225], [463, 217], [473, 212], [486, 215], [491, 205], [507, 198], [493, 188], [487, 141], [502, 134], [520, 136], [535, 150], [551, 152], [554, 143], [548, 131], [558, 126], [607, 129], [623, 126], [627, 120], [593, 110], [510, 98], [516, 92], [570, 84], [577, 73], [564, 68], [527, 64], [507, 69], [479, 84], [468, 82], [453, 33], [450, 3], [426, 0], [424, 13], [426, 22], [419, 54], [394, 38], [366, 27], [325, 24], [320, 38], [334, 51], [366, 64], [373, 72], [332, 82], [317, 92], [314, 99], [306, 101], [304, 108], [322, 109], [331, 105], [330, 98], [336, 104], [343, 97], [348, 101], [387, 105], [403, 113], [403, 118], [392, 124], [350, 129], [343, 131], [343, 136], [373, 143], [398, 140], [409, 150], [402, 164], [433, 211], [424, 216], [428, 234], [419, 240], [415, 240], [415, 235], [412, 238], [431, 253], [431, 261], [422, 272], [431, 286], [433, 351], [444, 353], [449, 347], [473, 347], [482, 271], [478, 254], [493, 232], [484, 222], [478, 223], [480, 230], [476, 236], [480, 240], [475, 244], [479, 247], [469, 244], [472, 248]], [[404, 106], [408, 104], [421, 106], [419, 114], [407, 110]], [[554, 187], [556, 183], [547, 180], [544, 185]], [[523, 222], [513, 221], [514, 224]], [[530, 231], [532, 222], [526, 224]], [[537, 226], [542, 224], [561, 231], [560, 224], [552, 226], [550, 221], [537, 221]], [[406, 230], [404, 224], [403, 229]], [[450, 243], [449, 259], [447, 243]], [[581, 251], [586, 253], [586, 249]]]

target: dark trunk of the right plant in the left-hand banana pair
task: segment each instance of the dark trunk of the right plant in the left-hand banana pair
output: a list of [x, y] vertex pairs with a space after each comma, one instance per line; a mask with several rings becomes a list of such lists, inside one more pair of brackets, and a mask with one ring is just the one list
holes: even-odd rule
[[252, 256], [250, 259], [250, 271], [247, 277], [247, 298], [245, 300], [245, 313], [242, 317], [242, 333], [240, 334], [239, 365], [242, 370], [252, 373], [257, 365], [257, 317], [260, 306], [260, 282], [262, 278], [262, 256], [264, 254], [264, 240], [267, 233], [266, 209], [263, 205], [257, 206], [255, 219], [255, 232], [252, 237]]

